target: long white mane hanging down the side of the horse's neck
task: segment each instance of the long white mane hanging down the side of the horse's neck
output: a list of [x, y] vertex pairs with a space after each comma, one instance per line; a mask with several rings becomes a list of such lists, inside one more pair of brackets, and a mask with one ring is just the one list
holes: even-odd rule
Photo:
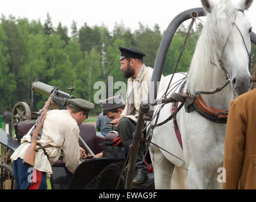
[[[217, 80], [224, 84], [225, 75], [219, 66], [219, 57], [233, 28], [236, 18], [236, 8], [230, 0], [219, 1], [212, 12], [207, 15], [207, 20], [202, 33], [197, 41], [189, 69], [188, 90], [209, 91], [219, 87]], [[215, 65], [214, 65], [215, 64]], [[212, 78], [219, 71], [223, 78]]]

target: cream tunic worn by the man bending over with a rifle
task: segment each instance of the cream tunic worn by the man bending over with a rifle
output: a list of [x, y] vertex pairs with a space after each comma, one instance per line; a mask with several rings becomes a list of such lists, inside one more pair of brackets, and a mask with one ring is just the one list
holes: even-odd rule
[[[24, 158], [25, 152], [30, 145], [30, 143], [24, 143], [24, 141], [31, 142], [31, 130], [23, 136], [21, 145], [11, 155], [11, 160]], [[79, 133], [80, 129], [78, 128], [77, 122], [71, 117], [68, 110], [50, 110], [47, 112], [42, 136], [40, 140], [37, 140], [37, 143], [42, 146], [51, 145], [51, 147], [45, 149], [49, 160], [44, 154], [44, 151], [39, 150], [35, 153], [34, 168], [41, 172], [46, 172], [47, 178], [51, 177], [51, 165], [58, 161], [61, 150], [63, 150], [66, 168], [72, 173], [75, 172], [76, 167], [80, 163]]]

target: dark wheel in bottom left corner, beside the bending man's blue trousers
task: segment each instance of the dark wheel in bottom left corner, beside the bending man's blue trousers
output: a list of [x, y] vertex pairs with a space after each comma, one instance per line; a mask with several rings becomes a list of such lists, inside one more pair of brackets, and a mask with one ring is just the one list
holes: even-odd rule
[[0, 163], [0, 189], [14, 189], [15, 178], [11, 165]]

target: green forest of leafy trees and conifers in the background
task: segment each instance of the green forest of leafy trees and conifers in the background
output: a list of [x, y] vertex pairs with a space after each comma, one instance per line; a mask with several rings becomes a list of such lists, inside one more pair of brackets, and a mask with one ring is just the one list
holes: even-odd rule
[[[70, 30], [61, 22], [53, 27], [49, 13], [43, 23], [11, 15], [2, 15], [0, 20], [1, 112], [12, 109], [20, 101], [27, 102], [32, 111], [41, 109], [47, 97], [34, 95], [31, 86], [35, 80], [59, 86], [64, 92], [68, 92], [66, 88], [73, 80], [73, 95], [94, 102], [95, 82], [103, 81], [107, 85], [108, 76], [113, 76], [114, 82], [127, 82], [120, 70], [119, 46], [142, 50], [146, 54], [145, 64], [154, 68], [164, 35], [158, 25], [149, 28], [141, 23], [133, 32], [123, 23], [116, 23], [113, 30], [105, 25], [89, 27], [87, 23], [78, 29], [75, 21]], [[187, 27], [182, 25], [174, 36], [164, 64], [164, 75], [173, 73]], [[203, 24], [198, 23], [190, 33], [178, 71], [188, 71], [202, 27]], [[255, 45], [252, 46], [252, 54], [254, 52]], [[101, 107], [95, 104], [92, 114], [99, 112]]]

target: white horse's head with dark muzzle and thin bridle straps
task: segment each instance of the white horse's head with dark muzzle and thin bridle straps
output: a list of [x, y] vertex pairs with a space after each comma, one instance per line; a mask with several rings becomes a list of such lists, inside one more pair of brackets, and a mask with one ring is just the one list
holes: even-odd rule
[[212, 45], [210, 62], [221, 68], [229, 78], [234, 95], [241, 95], [252, 86], [249, 68], [251, 65], [250, 32], [252, 26], [244, 11], [253, 0], [241, 0], [236, 6], [230, 0], [213, 3], [201, 0], [207, 11], [207, 21], [203, 32], [209, 34]]

